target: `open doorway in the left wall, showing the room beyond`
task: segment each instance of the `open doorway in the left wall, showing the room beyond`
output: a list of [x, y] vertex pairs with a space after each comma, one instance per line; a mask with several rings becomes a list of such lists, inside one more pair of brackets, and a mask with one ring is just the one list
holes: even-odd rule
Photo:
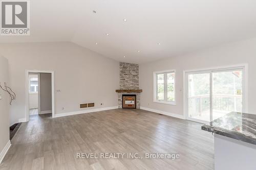
[[54, 117], [54, 72], [26, 70], [26, 122], [38, 116]]

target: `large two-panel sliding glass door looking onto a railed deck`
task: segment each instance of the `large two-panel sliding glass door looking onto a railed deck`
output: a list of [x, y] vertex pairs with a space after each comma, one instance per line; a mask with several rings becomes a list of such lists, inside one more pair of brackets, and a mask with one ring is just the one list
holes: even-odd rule
[[187, 118], [211, 122], [243, 111], [244, 68], [186, 72]]

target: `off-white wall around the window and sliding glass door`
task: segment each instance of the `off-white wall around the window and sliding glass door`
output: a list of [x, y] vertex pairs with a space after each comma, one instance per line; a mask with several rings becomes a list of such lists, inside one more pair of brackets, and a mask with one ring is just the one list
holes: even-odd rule
[[[248, 39], [183, 56], [141, 64], [139, 72], [139, 85], [140, 89], [143, 90], [143, 93], [141, 93], [141, 107], [183, 115], [183, 70], [248, 63], [248, 111], [249, 113], [256, 113], [256, 105], [254, 104], [256, 96], [255, 46], [256, 39]], [[176, 69], [176, 106], [153, 102], [153, 71], [168, 69]]]

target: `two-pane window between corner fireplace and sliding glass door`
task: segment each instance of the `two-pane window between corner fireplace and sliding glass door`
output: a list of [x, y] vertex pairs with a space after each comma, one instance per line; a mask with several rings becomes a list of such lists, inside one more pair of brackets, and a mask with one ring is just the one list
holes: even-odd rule
[[154, 102], [175, 105], [175, 70], [154, 72], [154, 78]]

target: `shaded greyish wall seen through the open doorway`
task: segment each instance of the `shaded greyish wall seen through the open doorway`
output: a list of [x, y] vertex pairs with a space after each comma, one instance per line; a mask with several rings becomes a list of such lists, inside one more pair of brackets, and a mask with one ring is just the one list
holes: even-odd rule
[[50, 73], [40, 73], [40, 111], [52, 110], [52, 76]]

